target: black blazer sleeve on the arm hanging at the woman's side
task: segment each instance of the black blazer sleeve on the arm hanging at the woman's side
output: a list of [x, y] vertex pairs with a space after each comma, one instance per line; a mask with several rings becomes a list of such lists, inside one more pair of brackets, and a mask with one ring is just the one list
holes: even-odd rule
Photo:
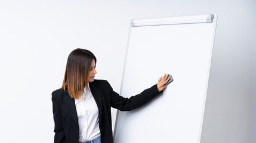
[[60, 107], [60, 100], [57, 100], [57, 94], [52, 94], [51, 100], [53, 101], [53, 119], [54, 119], [54, 143], [64, 143], [65, 134], [63, 129], [63, 118]]

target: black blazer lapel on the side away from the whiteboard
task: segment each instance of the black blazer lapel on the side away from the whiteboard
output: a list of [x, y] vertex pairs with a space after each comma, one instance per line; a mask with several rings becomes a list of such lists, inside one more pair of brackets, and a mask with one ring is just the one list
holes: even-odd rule
[[78, 113], [76, 112], [76, 104], [75, 100], [69, 96], [69, 92], [65, 91], [65, 96], [64, 100], [66, 101], [67, 107], [69, 107], [71, 116], [73, 117], [75, 121], [75, 125], [79, 128], [78, 126]]

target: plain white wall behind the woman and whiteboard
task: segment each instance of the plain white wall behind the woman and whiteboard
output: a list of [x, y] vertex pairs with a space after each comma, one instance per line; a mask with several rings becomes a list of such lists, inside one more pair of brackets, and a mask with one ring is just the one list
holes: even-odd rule
[[94, 52], [96, 78], [109, 80], [119, 92], [131, 18], [209, 13], [218, 14], [218, 24], [202, 142], [255, 142], [255, 5], [252, 0], [1, 0], [0, 142], [53, 141], [51, 92], [60, 88], [73, 49]]

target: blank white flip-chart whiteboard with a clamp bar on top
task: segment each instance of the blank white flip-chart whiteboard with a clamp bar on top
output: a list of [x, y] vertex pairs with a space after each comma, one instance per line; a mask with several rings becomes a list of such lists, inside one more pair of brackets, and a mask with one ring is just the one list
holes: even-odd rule
[[115, 143], [200, 142], [216, 24], [216, 14], [131, 20], [121, 95], [164, 73], [174, 81], [144, 107], [118, 111]]

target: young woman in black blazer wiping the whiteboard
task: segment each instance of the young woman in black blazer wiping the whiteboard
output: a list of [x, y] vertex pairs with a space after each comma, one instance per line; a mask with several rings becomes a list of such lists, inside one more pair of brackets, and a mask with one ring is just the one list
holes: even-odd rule
[[96, 61], [87, 49], [70, 53], [62, 86], [52, 94], [55, 143], [113, 143], [110, 107], [121, 111], [139, 108], [158, 96], [169, 80], [165, 74], [151, 88], [124, 98], [106, 80], [94, 79]]

